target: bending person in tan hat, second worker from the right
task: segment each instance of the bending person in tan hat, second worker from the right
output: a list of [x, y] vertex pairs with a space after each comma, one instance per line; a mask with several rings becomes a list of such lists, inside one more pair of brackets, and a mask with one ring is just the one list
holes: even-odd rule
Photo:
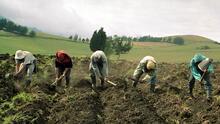
[[145, 76], [143, 80], [146, 80], [147, 76], [150, 76], [150, 91], [155, 91], [155, 86], [157, 84], [157, 75], [156, 75], [156, 61], [152, 56], [145, 56], [140, 63], [138, 64], [136, 70], [133, 74], [133, 87], [136, 87], [139, 79], [143, 73], [147, 73], [148, 75]]

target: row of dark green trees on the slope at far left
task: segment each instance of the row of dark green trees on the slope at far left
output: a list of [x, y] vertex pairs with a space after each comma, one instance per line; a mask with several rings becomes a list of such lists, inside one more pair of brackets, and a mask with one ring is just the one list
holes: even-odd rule
[[26, 26], [17, 25], [13, 21], [7, 20], [5, 18], [0, 19], [0, 30], [16, 33], [23, 36], [35, 37], [36, 32], [31, 30], [29, 31]]

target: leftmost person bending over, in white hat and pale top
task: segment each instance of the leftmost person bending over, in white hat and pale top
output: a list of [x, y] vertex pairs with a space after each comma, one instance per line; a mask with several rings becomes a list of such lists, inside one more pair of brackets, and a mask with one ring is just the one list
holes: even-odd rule
[[32, 81], [32, 73], [36, 70], [36, 58], [28, 51], [17, 50], [15, 53], [15, 78], [22, 78], [27, 74], [25, 87], [28, 87]]

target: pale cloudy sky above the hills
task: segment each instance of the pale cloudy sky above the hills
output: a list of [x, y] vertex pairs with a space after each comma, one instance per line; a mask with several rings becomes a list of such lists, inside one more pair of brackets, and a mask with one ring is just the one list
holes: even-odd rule
[[220, 41], [219, 0], [0, 0], [0, 16], [44, 32], [91, 37], [200, 35]]

